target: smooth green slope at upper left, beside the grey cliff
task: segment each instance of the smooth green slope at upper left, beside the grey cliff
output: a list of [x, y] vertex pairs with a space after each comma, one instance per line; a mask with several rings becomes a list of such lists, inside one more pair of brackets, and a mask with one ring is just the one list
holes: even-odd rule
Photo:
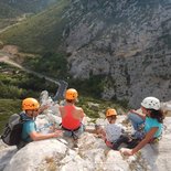
[[68, 0], [61, 0], [55, 6], [36, 15], [30, 17], [18, 25], [0, 34], [4, 44], [14, 44], [23, 52], [56, 52], [62, 43], [62, 33], [67, 21], [62, 19]]

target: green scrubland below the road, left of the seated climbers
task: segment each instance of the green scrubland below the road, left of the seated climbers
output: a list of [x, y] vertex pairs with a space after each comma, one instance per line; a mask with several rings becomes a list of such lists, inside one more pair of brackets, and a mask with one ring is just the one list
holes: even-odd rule
[[44, 89], [54, 95], [57, 86], [43, 78], [0, 63], [0, 132], [10, 115], [21, 110], [25, 97], [39, 98]]

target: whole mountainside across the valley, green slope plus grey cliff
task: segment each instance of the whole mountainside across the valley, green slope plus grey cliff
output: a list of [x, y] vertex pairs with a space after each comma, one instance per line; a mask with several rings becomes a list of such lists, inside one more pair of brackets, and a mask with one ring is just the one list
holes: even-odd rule
[[132, 107], [146, 96], [170, 100], [170, 0], [58, 0], [0, 40], [26, 52], [65, 51], [71, 77], [99, 76], [94, 90], [105, 99]]

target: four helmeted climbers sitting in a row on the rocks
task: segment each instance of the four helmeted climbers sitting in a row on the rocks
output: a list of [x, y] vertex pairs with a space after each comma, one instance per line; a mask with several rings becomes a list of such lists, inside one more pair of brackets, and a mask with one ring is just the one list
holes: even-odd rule
[[[41, 108], [36, 99], [25, 98], [22, 101], [24, 122], [21, 136], [21, 142], [24, 143], [22, 146], [19, 145], [18, 148], [20, 149], [31, 141], [61, 136], [73, 137], [76, 141], [84, 132], [84, 118], [86, 117], [83, 108], [75, 105], [78, 93], [76, 89], [70, 88], [66, 90], [65, 104], [58, 108], [62, 117], [61, 128], [54, 129], [53, 132], [46, 135], [39, 132], [35, 125], [36, 116], [46, 109], [46, 106]], [[146, 97], [141, 101], [141, 111], [142, 114], [131, 110], [127, 115], [135, 129], [132, 135], [128, 135], [125, 127], [121, 124], [116, 122], [117, 111], [114, 108], [109, 108], [106, 111], [108, 124], [105, 125], [105, 127], [96, 125], [94, 130], [89, 131], [86, 129], [86, 131], [97, 133], [98, 137], [104, 139], [107, 147], [114, 150], [120, 150], [122, 154], [132, 156], [147, 143], [158, 141], [162, 135], [164, 117], [161, 110], [160, 100], [156, 97]], [[127, 148], [120, 149], [120, 145], [122, 143], [125, 143]]]

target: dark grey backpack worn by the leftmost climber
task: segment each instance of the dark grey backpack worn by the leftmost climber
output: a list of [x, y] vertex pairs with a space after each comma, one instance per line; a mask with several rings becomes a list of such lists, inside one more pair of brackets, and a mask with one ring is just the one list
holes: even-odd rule
[[18, 146], [22, 141], [21, 132], [23, 122], [24, 120], [20, 114], [11, 115], [1, 135], [1, 139], [6, 145]]

